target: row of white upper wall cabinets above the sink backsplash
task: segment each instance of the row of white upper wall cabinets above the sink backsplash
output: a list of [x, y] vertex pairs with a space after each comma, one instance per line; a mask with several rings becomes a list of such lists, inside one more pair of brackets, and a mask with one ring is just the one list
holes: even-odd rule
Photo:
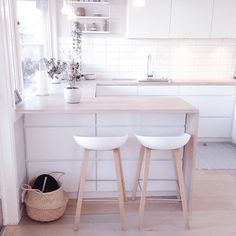
[[235, 0], [149, 0], [127, 5], [128, 38], [236, 38]]

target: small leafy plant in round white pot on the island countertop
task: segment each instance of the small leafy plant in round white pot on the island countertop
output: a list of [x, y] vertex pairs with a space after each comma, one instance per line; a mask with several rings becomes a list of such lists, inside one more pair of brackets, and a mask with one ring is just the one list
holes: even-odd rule
[[64, 89], [64, 99], [67, 103], [79, 103], [81, 99], [81, 91], [75, 86], [77, 80], [80, 79], [80, 66], [78, 62], [72, 61], [69, 64], [68, 82], [69, 86]]

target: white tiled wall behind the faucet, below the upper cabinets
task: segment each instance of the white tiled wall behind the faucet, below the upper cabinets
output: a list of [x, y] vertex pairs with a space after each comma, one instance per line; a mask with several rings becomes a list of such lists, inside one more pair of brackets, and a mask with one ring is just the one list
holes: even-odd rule
[[[59, 55], [71, 46], [69, 23], [58, 5]], [[138, 25], [137, 25], [138, 27]], [[126, 39], [126, 0], [111, 0], [111, 34], [83, 36], [83, 68], [101, 79], [144, 78], [152, 53], [157, 76], [228, 79], [236, 64], [236, 40]]]

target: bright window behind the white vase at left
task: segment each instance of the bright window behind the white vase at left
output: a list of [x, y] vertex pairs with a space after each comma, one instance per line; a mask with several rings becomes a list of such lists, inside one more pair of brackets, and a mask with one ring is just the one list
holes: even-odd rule
[[24, 95], [36, 87], [38, 62], [49, 55], [48, 0], [17, 0]]

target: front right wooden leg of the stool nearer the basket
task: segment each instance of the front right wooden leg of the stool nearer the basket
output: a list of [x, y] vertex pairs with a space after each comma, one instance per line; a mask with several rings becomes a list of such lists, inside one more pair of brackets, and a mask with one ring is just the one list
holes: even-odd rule
[[122, 173], [121, 173], [121, 165], [120, 165], [120, 156], [119, 156], [119, 150], [114, 149], [113, 150], [114, 155], [114, 161], [115, 161], [115, 169], [116, 169], [116, 177], [117, 177], [117, 188], [119, 192], [119, 209], [120, 209], [120, 222], [121, 227], [123, 230], [125, 230], [125, 202], [124, 202], [124, 188], [122, 184]]

